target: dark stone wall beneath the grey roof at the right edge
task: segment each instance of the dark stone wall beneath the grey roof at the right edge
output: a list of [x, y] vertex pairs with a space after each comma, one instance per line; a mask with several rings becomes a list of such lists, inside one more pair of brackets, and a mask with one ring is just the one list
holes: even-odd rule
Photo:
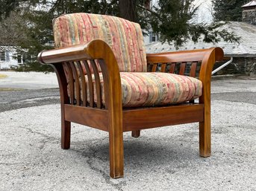
[[[220, 65], [228, 62], [216, 63], [213, 67], [213, 70], [218, 68]], [[256, 77], [256, 57], [253, 58], [233, 58], [233, 62], [227, 65], [225, 68], [222, 68], [216, 73], [217, 75], [225, 74], [244, 74], [252, 77]]]

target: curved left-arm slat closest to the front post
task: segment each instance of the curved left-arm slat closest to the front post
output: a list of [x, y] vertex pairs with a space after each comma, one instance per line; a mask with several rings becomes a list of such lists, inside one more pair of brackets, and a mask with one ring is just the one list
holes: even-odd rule
[[102, 108], [102, 86], [101, 86], [101, 80], [99, 77], [99, 70], [95, 60], [91, 60], [90, 64], [93, 67], [93, 74], [94, 74], [94, 80], [96, 85], [97, 108], [101, 109]]

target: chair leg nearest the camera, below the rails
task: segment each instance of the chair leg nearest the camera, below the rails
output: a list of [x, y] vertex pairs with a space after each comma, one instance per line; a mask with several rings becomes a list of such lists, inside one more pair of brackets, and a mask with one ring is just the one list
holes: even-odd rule
[[109, 132], [110, 176], [122, 178], [124, 175], [124, 148], [121, 131]]

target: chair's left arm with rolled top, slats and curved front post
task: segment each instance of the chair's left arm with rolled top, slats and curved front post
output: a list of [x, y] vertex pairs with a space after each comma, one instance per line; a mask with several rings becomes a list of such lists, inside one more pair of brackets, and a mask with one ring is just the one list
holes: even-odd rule
[[[116, 57], [114, 56], [113, 51], [106, 42], [100, 39], [95, 39], [87, 44], [73, 45], [66, 48], [57, 48], [50, 51], [42, 51], [40, 52], [40, 54], [38, 54], [38, 60], [42, 64], [50, 64], [53, 66], [60, 85], [61, 102], [63, 104], [68, 103], [78, 106], [80, 106], [80, 103], [75, 103], [75, 101], [70, 101], [70, 99], [73, 98], [73, 100], [75, 100], [75, 96], [80, 97], [80, 92], [78, 91], [79, 89], [84, 89], [84, 92], [86, 93], [86, 88], [84, 88], [86, 87], [86, 85], [81, 87], [82, 85], [79, 84], [79, 76], [84, 77], [84, 75], [81, 75], [81, 62], [88, 61], [91, 63], [94, 76], [96, 78], [97, 76], [99, 77], [99, 71], [95, 69], [96, 62], [94, 62], [94, 60], [98, 60], [104, 79], [105, 109], [111, 110], [113, 112], [116, 112], [116, 110], [118, 109], [122, 110], [122, 90], [119, 67], [117, 65]], [[69, 69], [69, 80], [66, 79], [63, 65], [66, 65]], [[93, 95], [92, 77], [90, 77], [89, 79], [89, 74], [91, 74], [91, 68], [89, 68], [87, 65], [86, 70], [88, 76], [87, 87], [90, 88], [90, 95]], [[80, 73], [80, 75], [78, 75], [78, 73]], [[69, 94], [72, 94], [71, 98], [69, 98], [68, 96], [68, 91], [66, 88], [67, 82], [69, 82], [69, 85], [72, 85], [72, 92], [69, 92]], [[96, 86], [97, 107], [101, 108], [101, 105], [98, 105], [99, 100], [102, 99], [101, 95], [98, 94], [98, 91], [101, 91], [99, 78], [98, 82], [95, 83], [98, 84], [98, 86]], [[91, 98], [92, 100], [90, 100], [90, 107], [95, 107], [93, 106], [93, 96], [91, 96]]]

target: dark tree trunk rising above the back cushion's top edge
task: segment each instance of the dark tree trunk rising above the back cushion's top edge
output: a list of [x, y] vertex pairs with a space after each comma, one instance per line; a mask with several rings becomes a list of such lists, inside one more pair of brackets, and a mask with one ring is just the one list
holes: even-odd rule
[[131, 22], [137, 22], [136, 3], [137, 0], [119, 0], [120, 16]]

